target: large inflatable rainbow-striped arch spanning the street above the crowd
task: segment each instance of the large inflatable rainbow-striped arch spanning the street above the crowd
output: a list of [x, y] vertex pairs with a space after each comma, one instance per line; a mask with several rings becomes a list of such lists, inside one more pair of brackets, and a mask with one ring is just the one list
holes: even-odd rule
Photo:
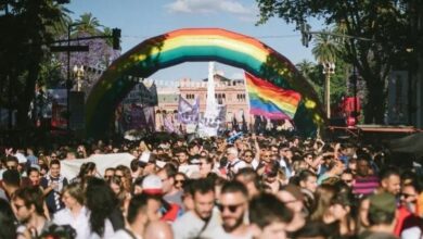
[[131, 77], [146, 78], [161, 68], [196, 61], [240, 67], [299, 92], [303, 100], [294, 122], [304, 133], [312, 133], [325, 120], [315, 90], [282, 54], [255, 38], [226, 29], [185, 28], [148, 39], [113, 62], [88, 96], [87, 136], [104, 136], [116, 106], [136, 85]]

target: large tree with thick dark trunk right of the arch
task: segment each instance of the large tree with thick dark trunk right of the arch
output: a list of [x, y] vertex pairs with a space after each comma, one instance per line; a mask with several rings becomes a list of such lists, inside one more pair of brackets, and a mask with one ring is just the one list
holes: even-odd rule
[[[279, 16], [286, 23], [302, 24], [310, 17], [328, 26], [342, 24], [346, 35], [341, 58], [355, 65], [367, 85], [364, 123], [383, 124], [386, 81], [389, 72], [403, 59], [410, 35], [407, 0], [287, 1], [257, 0], [260, 21]], [[421, 1], [420, 1], [421, 2]], [[422, 8], [423, 3], [419, 3]], [[361, 37], [359, 39], [358, 37]], [[367, 38], [370, 40], [363, 40]]]

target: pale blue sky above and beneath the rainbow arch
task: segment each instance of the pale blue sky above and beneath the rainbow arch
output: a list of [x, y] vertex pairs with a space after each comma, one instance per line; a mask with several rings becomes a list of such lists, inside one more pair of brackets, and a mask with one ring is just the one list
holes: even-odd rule
[[[303, 59], [315, 61], [311, 47], [302, 46], [299, 32], [280, 18], [255, 26], [258, 9], [255, 0], [72, 0], [67, 8], [73, 18], [91, 12], [101, 24], [121, 29], [123, 52], [141, 41], [164, 33], [188, 27], [219, 27], [259, 39], [294, 64]], [[316, 22], [312, 29], [321, 29]], [[243, 71], [217, 64], [226, 76], [240, 76]], [[162, 70], [153, 79], [176, 80], [182, 77], [207, 77], [207, 62], [184, 63]]]

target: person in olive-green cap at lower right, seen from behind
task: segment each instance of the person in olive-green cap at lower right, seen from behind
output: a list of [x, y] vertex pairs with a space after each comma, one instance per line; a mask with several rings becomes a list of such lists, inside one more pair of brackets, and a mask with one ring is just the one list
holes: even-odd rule
[[369, 228], [359, 235], [359, 239], [394, 239], [396, 223], [396, 199], [389, 192], [380, 192], [369, 197]]

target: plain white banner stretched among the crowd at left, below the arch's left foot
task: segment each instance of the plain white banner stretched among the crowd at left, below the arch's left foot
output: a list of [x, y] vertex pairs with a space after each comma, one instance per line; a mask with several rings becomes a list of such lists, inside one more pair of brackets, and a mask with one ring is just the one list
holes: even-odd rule
[[111, 154], [94, 154], [88, 159], [79, 160], [62, 160], [61, 161], [61, 174], [70, 180], [75, 178], [79, 168], [84, 163], [93, 162], [97, 165], [97, 172], [103, 176], [104, 171], [107, 167], [116, 167], [117, 165], [130, 166], [133, 155], [130, 153], [111, 153]]

